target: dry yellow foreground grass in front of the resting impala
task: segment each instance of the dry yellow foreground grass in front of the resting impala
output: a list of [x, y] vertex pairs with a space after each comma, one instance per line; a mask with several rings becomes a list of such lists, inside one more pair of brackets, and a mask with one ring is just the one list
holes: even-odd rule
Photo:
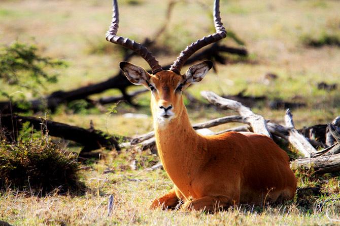
[[[296, 201], [265, 206], [264, 210], [240, 206], [216, 214], [183, 209], [149, 210], [151, 200], [172, 186], [163, 170], [120, 171], [117, 167], [115, 173], [104, 174], [106, 166], [101, 164], [84, 171], [88, 186], [84, 196], [34, 197], [15, 191], [2, 194], [0, 219], [14, 225], [324, 225], [335, 223], [331, 219], [338, 219], [340, 213], [339, 203], [334, 202], [339, 200], [338, 196], [328, 197], [328, 201], [309, 200], [312, 203], [309, 209]], [[114, 205], [108, 216], [110, 195], [114, 196]]]

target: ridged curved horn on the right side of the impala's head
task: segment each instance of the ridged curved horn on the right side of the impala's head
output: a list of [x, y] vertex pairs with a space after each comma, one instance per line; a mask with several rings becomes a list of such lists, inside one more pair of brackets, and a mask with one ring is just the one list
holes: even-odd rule
[[177, 74], [181, 74], [182, 66], [192, 54], [194, 54], [199, 49], [208, 46], [208, 44], [221, 40], [227, 36], [227, 32], [223, 27], [223, 23], [221, 22], [219, 0], [215, 0], [214, 3], [214, 24], [216, 33], [198, 39], [197, 41], [191, 43], [190, 46], [187, 46], [187, 48], [181, 52], [180, 56], [173, 63], [173, 65], [171, 65], [170, 70]]

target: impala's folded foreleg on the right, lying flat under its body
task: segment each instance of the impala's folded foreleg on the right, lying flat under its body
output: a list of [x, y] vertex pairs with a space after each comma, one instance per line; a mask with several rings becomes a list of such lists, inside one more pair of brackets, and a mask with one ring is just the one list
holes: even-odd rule
[[206, 210], [208, 212], [215, 212], [220, 208], [229, 207], [232, 205], [237, 205], [240, 202], [240, 197], [235, 199], [230, 199], [227, 197], [210, 197], [205, 196], [192, 201], [187, 201], [184, 203], [184, 208], [190, 210]]

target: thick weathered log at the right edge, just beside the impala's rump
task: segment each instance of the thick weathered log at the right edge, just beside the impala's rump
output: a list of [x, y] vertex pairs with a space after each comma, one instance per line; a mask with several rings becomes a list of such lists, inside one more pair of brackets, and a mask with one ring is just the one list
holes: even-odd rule
[[293, 169], [313, 167], [317, 174], [338, 172], [340, 171], [340, 154], [297, 159], [292, 161], [290, 165]]

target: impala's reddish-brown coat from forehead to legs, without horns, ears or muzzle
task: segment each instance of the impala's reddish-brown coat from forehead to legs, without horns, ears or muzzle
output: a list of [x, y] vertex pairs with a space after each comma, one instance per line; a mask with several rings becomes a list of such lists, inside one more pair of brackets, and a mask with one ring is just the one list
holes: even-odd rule
[[[152, 208], [214, 210], [216, 205], [263, 204], [292, 199], [296, 178], [289, 158], [273, 140], [251, 132], [202, 136], [192, 128], [182, 96], [175, 89], [181, 76], [162, 71], [151, 76], [158, 92], [152, 95], [159, 157], [175, 187], [153, 201]], [[163, 93], [166, 85], [167, 95]], [[171, 95], [168, 95], [169, 94]], [[176, 117], [159, 123], [159, 105], [172, 104]]]

